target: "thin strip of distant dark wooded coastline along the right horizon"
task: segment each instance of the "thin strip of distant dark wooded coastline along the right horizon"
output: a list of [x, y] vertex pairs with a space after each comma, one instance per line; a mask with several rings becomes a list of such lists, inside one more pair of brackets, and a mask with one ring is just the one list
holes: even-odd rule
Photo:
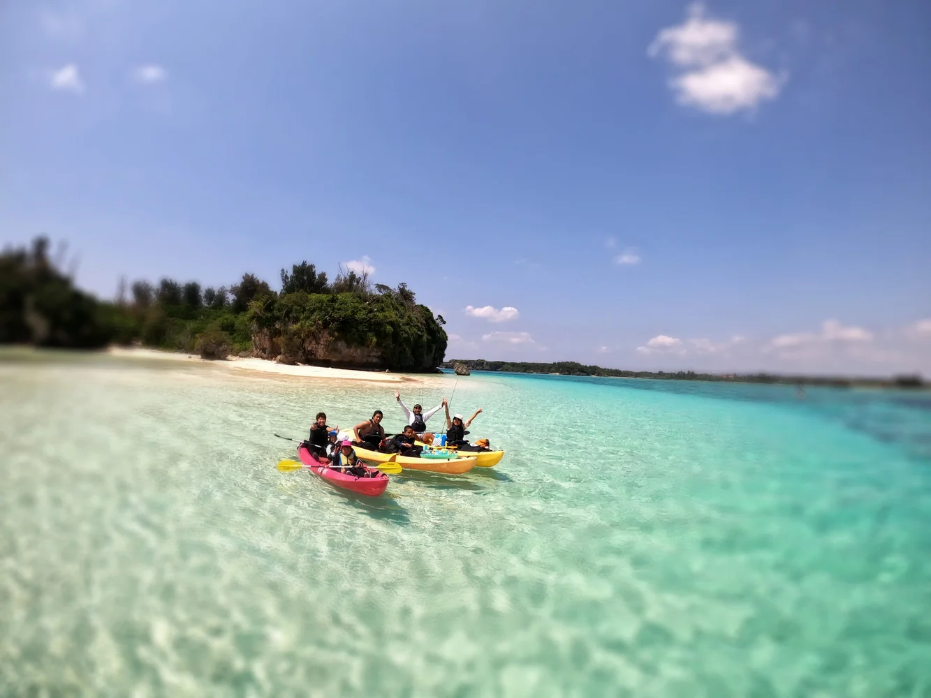
[[895, 376], [891, 379], [838, 378], [818, 376], [786, 376], [773, 373], [696, 373], [694, 370], [648, 371], [604, 369], [600, 366], [586, 366], [575, 361], [557, 361], [551, 364], [526, 361], [486, 361], [483, 358], [454, 358], [441, 364], [444, 369], [452, 369], [456, 364], [463, 364], [469, 370], [503, 371], [510, 373], [558, 373], [563, 376], [604, 376], [607, 378], [650, 378], [665, 381], [715, 381], [723, 383], [789, 383], [792, 385], [829, 385], [833, 387], [850, 387], [870, 385], [875, 387], [921, 388], [925, 383], [921, 376]]

